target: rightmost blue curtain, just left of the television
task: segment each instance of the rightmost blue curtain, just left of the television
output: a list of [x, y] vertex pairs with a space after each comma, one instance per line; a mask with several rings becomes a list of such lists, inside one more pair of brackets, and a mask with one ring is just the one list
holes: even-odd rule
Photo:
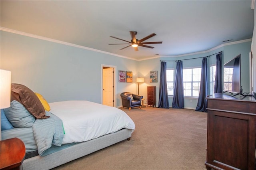
[[222, 53], [216, 55], [216, 74], [215, 74], [215, 83], [214, 83], [214, 93], [222, 93], [222, 62], [221, 62]]

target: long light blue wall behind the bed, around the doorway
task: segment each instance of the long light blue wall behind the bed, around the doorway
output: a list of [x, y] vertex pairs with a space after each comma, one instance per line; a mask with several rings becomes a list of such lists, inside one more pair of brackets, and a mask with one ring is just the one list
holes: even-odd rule
[[[24, 84], [48, 102], [88, 100], [101, 103], [101, 64], [137, 74], [138, 61], [1, 31], [1, 69], [12, 71], [12, 83]], [[133, 82], [136, 82], [134, 79]], [[136, 83], [116, 83], [120, 93], [136, 93]]]

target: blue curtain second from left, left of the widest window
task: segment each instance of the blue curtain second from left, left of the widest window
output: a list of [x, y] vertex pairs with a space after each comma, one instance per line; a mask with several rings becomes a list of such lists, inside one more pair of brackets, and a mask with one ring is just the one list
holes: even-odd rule
[[183, 65], [182, 61], [177, 61], [175, 81], [174, 81], [174, 95], [172, 101], [172, 108], [184, 108], [184, 91], [183, 91]]

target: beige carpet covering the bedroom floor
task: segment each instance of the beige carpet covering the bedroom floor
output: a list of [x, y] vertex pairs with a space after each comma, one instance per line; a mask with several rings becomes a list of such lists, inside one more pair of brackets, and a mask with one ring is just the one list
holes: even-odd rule
[[56, 170], [206, 170], [207, 113], [144, 107], [124, 110], [136, 128], [124, 140]]

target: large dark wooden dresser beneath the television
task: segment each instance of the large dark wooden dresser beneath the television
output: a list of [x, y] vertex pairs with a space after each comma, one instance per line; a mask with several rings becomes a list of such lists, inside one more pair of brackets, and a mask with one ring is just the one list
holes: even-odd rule
[[256, 100], [238, 98], [223, 93], [206, 97], [207, 170], [255, 169]]

